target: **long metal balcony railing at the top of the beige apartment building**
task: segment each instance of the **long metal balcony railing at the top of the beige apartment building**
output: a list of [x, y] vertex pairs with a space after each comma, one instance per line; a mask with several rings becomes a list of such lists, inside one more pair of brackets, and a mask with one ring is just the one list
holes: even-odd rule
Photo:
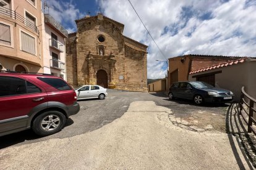
[[39, 30], [36, 27], [35, 23], [30, 22], [29, 20], [26, 20], [22, 15], [18, 14], [14, 10], [8, 9], [6, 7], [1, 7], [0, 6], [0, 14], [5, 15], [7, 17], [14, 18], [15, 20], [22, 22], [24, 25], [28, 26], [31, 28], [33, 31], [39, 34]]

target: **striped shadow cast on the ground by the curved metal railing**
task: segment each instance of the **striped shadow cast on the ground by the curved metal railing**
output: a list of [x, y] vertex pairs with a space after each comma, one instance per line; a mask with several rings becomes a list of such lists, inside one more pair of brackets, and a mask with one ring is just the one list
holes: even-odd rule
[[[245, 169], [244, 164], [242, 163], [237, 152], [238, 149], [241, 150], [241, 153], [250, 169], [254, 169], [256, 168], [256, 160], [252, 158], [252, 154], [256, 154], [256, 148], [254, 145], [255, 141], [253, 141], [254, 139], [252, 134], [247, 133], [247, 127], [245, 126], [244, 120], [241, 119], [241, 116], [238, 114], [239, 105], [237, 103], [231, 104], [226, 112], [226, 132], [228, 134], [229, 143], [239, 168]], [[234, 141], [233, 136], [236, 137], [236, 141]], [[237, 145], [239, 145], [239, 148], [236, 147], [235, 142]]]

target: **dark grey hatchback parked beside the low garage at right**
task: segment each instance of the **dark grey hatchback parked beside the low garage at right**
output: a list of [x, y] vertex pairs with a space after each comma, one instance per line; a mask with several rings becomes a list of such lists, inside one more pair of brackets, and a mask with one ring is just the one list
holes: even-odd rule
[[234, 94], [226, 89], [211, 86], [202, 81], [176, 82], [169, 88], [168, 97], [194, 100], [197, 104], [232, 102]]

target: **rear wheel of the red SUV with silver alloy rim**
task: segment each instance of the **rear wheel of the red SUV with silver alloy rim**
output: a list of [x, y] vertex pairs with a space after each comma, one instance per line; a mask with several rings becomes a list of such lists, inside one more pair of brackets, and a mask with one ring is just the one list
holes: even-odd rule
[[61, 131], [66, 117], [59, 111], [45, 111], [35, 118], [32, 129], [39, 136], [48, 136]]

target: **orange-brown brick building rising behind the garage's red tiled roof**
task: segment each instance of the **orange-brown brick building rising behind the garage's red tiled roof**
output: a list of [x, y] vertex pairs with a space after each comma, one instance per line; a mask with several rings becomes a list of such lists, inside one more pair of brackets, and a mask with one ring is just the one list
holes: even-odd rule
[[[168, 87], [176, 81], [188, 81], [189, 73], [200, 68], [216, 65], [230, 60], [237, 60], [241, 57], [231, 57], [222, 55], [182, 55], [169, 58]], [[197, 81], [211, 83], [212, 75], [200, 76]]]

